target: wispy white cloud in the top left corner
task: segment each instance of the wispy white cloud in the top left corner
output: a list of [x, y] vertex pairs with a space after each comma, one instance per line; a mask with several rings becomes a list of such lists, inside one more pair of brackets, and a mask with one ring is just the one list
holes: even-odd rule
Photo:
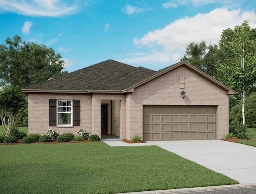
[[84, 0], [71, 2], [68, 3], [66, 0], [0, 0], [0, 12], [14, 12], [26, 16], [58, 17], [75, 14], [80, 10], [79, 8], [87, 5]]

